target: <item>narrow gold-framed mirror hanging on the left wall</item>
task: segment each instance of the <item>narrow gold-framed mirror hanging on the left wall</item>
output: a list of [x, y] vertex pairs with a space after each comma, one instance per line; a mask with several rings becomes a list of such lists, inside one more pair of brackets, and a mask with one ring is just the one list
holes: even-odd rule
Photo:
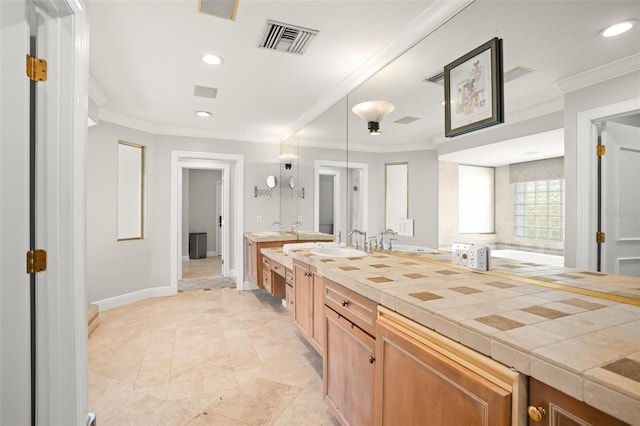
[[118, 241], [139, 240], [144, 227], [144, 147], [118, 142]]

